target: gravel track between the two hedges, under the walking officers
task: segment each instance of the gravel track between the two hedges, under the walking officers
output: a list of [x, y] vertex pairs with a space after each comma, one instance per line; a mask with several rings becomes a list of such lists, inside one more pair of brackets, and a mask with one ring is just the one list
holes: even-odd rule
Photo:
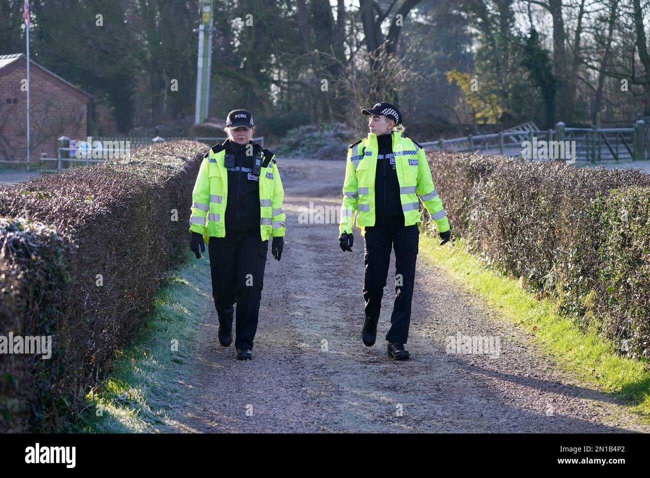
[[[408, 341], [411, 360], [396, 362], [385, 351], [394, 258], [377, 343], [365, 347], [359, 230], [350, 254], [339, 248], [337, 224], [298, 222], [300, 208], [309, 202], [339, 206], [344, 166], [279, 161], [287, 237], [279, 263], [268, 254], [253, 360], [239, 362], [232, 345], [218, 344], [214, 304], [207, 302], [201, 341], [179, 376], [186, 392], [168, 409], [175, 431], [649, 431], [612, 395], [560, 371], [525, 331], [493, 317], [496, 312], [422, 254]], [[447, 354], [445, 338], [459, 331], [500, 336], [498, 358]]]

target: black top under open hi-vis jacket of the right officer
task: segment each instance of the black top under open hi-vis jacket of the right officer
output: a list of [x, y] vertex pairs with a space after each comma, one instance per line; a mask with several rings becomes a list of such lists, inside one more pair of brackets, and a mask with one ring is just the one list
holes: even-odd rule
[[374, 204], [376, 226], [404, 226], [404, 213], [400, 202], [400, 183], [395, 169], [393, 135], [377, 137], [377, 170], [374, 178]]

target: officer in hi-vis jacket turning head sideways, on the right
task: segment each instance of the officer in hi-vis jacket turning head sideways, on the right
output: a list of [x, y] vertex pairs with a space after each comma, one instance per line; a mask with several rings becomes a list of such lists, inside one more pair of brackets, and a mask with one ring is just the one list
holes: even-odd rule
[[387, 354], [398, 360], [408, 359], [404, 344], [411, 321], [419, 245], [419, 200], [437, 224], [443, 239], [440, 245], [450, 239], [451, 228], [422, 146], [404, 137], [400, 111], [382, 101], [361, 113], [369, 116], [370, 133], [348, 149], [339, 245], [352, 252], [352, 218], [356, 217], [365, 239], [365, 322], [361, 339], [368, 347], [376, 339], [391, 248], [395, 250], [395, 302], [391, 328], [386, 334]]

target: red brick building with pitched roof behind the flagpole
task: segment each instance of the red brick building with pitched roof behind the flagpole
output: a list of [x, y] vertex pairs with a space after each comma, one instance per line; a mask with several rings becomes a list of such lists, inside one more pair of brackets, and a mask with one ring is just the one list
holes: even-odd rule
[[[25, 161], [27, 151], [27, 57], [0, 55], [0, 160]], [[57, 157], [57, 138], [85, 139], [92, 95], [29, 62], [30, 157]]]

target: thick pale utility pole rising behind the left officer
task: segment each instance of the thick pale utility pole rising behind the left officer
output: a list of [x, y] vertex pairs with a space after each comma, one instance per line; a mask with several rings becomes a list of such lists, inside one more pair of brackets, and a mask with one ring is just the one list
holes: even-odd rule
[[[210, 101], [214, 0], [200, 0], [199, 12], [201, 14], [201, 24], [198, 28], [199, 50], [196, 64], [196, 103], [194, 109], [194, 124], [198, 124], [207, 118]], [[195, 29], [194, 31], [197, 30]]]

